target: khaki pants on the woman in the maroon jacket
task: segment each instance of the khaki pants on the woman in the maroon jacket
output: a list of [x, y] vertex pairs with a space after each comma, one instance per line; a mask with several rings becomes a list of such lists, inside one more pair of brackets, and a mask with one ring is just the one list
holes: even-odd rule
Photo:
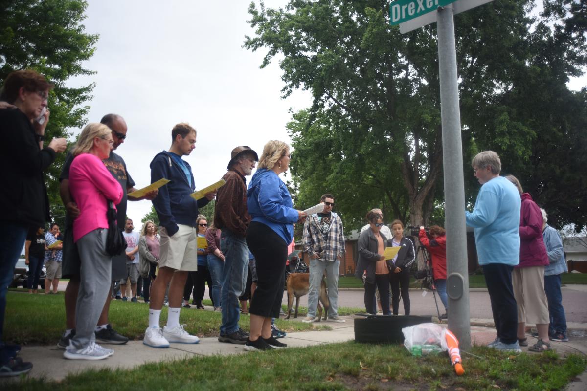
[[548, 301], [544, 293], [544, 266], [514, 268], [512, 285], [518, 305], [518, 323], [549, 324]]

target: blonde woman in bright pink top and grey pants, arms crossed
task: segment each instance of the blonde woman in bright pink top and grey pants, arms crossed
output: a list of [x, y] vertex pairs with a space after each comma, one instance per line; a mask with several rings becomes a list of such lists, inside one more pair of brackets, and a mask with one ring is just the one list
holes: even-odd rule
[[107, 202], [116, 205], [123, 196], [120, 184], [102, 162], [109, 157], [113, 142], [109, 127], [87, 124], [72, 150], [69, 189], [80, 209], [73, 222], [73, 240], [82, 264], [76, 334], [63, 352], [68, 359], [100, 360], [114, 353], [97, 345], [94, 334], [112, 280], [112, 257], [106, 253]]

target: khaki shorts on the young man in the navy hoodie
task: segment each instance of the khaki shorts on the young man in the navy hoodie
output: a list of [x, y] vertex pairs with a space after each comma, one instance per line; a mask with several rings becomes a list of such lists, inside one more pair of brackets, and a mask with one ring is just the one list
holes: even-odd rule
[[188, 225], [178, 224], [173, 236], [160, 227], [159, 267], [169, 267], [181, 271], [198, 270], [197, 230]]

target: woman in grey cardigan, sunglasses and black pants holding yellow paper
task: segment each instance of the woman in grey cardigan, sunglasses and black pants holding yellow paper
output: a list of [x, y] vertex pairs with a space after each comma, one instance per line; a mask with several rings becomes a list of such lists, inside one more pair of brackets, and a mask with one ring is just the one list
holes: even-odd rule
[[387, 238], [380, 232], [383, 219], [379, 213], [367, 213], [369, 228], [359, 236], [359, 261], [355, 275], [363, 278], [365, 285], [365, 309], [369, 314], [376, 314], [373, 297], [375, 287], [381, 297], [383, 315], [389, 315], [389, 269], [383, 256]]

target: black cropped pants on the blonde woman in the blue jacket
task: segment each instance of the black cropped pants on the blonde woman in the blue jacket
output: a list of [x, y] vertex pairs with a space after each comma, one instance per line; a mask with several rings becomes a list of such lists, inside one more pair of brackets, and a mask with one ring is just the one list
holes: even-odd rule
[[247, 229], [247, 246], [255, 256], [258, 278], [249, 312], [260, 317], [278, 318], [284, 297], [288, 243], [263, 223], [251, 222]]

